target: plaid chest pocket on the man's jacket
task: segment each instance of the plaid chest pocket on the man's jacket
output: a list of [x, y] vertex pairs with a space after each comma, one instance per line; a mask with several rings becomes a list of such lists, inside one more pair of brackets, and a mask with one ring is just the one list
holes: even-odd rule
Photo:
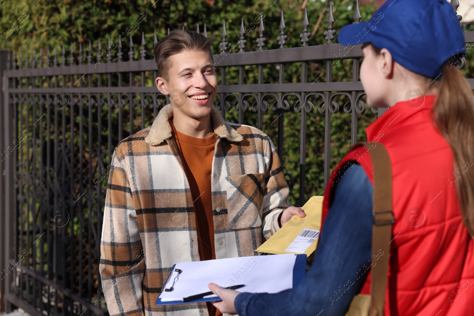
[[226, 177], [227, 214], [231, 229], [262, 225], [265, 174], [250, 173]]

